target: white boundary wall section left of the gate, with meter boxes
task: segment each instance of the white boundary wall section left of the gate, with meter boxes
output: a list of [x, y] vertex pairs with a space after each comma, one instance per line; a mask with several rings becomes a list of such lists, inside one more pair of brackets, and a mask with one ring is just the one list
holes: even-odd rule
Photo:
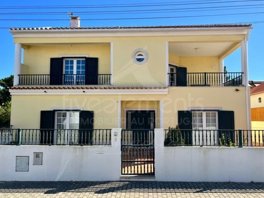
[[[121, 129], [112, 129], [111, 141], [111, 146], [0, 146], [0, 181], [119, 180]], [[43, 152], [43, 165], [33, 165], [33, 152]], [[16, 172], [16, 156], [29, 156], [28, 172]]]

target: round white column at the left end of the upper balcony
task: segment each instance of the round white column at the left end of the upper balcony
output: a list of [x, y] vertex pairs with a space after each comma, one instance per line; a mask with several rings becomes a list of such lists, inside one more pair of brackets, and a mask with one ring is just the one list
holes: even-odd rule
[[20, 43], [15, 43], [14, 86], [19, 84], [18, 75], [21, 71], [21, 48]]

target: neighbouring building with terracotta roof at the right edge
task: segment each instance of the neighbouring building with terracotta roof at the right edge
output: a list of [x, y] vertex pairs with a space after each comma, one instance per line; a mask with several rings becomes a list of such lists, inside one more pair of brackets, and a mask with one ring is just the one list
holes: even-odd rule
[[251, 88], [250, 103], [252, 130], [264, 130], [264, 83]]

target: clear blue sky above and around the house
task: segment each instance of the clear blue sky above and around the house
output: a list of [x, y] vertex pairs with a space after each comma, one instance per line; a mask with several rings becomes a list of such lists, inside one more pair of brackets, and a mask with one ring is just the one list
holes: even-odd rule
[[[248, 41], [249, 80], [264, 80], [264, 0], [0, 1], [0, 79], [10, 76], [14, 71], [14, 41], [9, 27], [68, 27], [68, 12], [81, 17], [81, 26], [251, 22], [253, 29]], [[241, 72], [240, 53], [238, 49], [225, 58], [228, 72]]]

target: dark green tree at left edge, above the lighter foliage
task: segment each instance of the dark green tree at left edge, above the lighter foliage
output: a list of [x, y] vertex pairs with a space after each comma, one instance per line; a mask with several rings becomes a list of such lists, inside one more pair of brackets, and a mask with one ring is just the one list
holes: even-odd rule
[[11, 75], [7, 78], [3, 78], [0, 80], [0, 105], [3, 105], [5, 103], [11, 101], [11, 96], [9, 93], [9, 87], [13, 86], [13, 78], [14, 78], [14, 76]]

